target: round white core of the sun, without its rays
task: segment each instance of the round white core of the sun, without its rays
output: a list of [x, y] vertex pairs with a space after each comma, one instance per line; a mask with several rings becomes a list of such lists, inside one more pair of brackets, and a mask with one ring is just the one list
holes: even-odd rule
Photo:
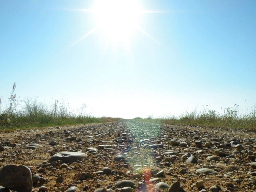
[[93, 9], [98, 28], [112, 40], [126, 41], [136, 30], [142, 10], [133, 0], [98, 0]]

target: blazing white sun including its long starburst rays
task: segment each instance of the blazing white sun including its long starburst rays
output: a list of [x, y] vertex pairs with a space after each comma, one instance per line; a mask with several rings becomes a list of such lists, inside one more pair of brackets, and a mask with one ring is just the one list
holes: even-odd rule
[[[89, 12], [93, 14], [93, 22], [95, 26], [75, 41], [69, 48], [94, 33], [101, 31], [101, 36], [106, 37], [103, 55], [112, 42], [113, 50], [120, 47], [120, 42], [124, 46], [124, 50], [133, 60], [132, 50], [130, 48], [130, 40], [135, 31], [140, 31], [156, 43], [161, 45], [156, 39], [141, 28], [143, 14], [147, 13], [164, 13], [163, 11], [143, 10], [137, 0], [95, 0], [91, 9], [68, 9], [72, 11]], [[69, 49], [68, 48], [68, 49]]]

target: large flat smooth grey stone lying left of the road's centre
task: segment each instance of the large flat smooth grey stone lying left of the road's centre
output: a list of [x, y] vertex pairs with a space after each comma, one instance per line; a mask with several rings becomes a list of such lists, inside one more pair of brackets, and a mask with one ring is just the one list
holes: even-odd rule
[[86, 158], [87, 154], [81, 152], [61, 152], [56, 153], [49, 159], [49, 163], [53, 161], [62, 161], [63, 163], [72, 163], [79, 158]]

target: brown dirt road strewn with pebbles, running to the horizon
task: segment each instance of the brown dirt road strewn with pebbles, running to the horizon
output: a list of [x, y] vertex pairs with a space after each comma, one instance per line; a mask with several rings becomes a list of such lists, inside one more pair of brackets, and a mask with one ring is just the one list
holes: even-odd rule
[[[245, 140], [246, 138], [250, 140]], [[0, 150], [0, 169], [8, 164], [29, 167], [32, 175], [39, 174], [45, 178], [45, 181], [42, 179], [41, 183], [33, 185], [33, 191], [38, 191], [41, 186], [46, 186], [47, 191], [65, 191], [77, 186], [77, 192], [93, 192], [100, 188], [104, 188], [100, 191], [112, 189], [119, 192], [120, 188], [113, 184], [121, 180], [132, 180], [136, 184], [133, 192], [168, 191], [169, 189], [156, 189], [155, 184], [165, 182], [171, 185], [176, 181], [181, 185], [179, 191], [216, 191], [216, 188], [218, 191], [255, 191], [256, 166], [250, 164], [255, 162], [256, 157], [255, 138], [256, 132], [253, 130], [132, 120], [17, 130], [1, 132], [0, 143], [5, 150]], [[49, 145], [53, 140], [57, 144]], [[196, 141], [199, 141], [197, 145]], [[240, 145], [230, 145], [232, 141], [237, 141]], [[202, 146], [199, 146], [200, 142]], [[42, 146], [29, 149], [32, 143]], [[110, 145], [105, 147], [110, 150], [99, 147], [103, 144]], [[158, 148], [151, 148], [150, 145], [157, 145]], [[88, 148], [96, 148], [98, 151], [88, 153]], [[83, 152], [88, 157], [69, 163], [68, 167], [61, 169], [60, 161], [48, 163], [52, 155], [66, 151]], [[124, 155], [125, 160], [114, 161], [117, 155]], [[188, 163], [190, 156], [195, 157], [196, 162]], [[208, 158], [211, 156], [217, 157], [211, 160]], [[238, 161], [233, 162], [232, 158]], [[115, 173], [101, 174], [99, 171], [104, 167], [115, 170]], [[219, 174], [198, 173], [196, 170], [200, 168], [210, 168]], [[90, 172], [91, 176], [79, 180], [82, 172]], [[151, 175], [147, 178], [149, 172]], [[159, 172], [164, 174], [155, 175]], [[139, 178], [135, 179], [133, 175], [136, 173], [139, 173]], [[57, 183], [60, 176], [64, 180]], [[159, 179], [152, 183], [148, 181], [150, 178]], [[197, 183], [200, 180], [203, 181], [202, 186]], [[139, 182], [144, 183], [140, 184], [142, 187], [139, 187]], [[215, 185], [218, 187], [212, 187]]]

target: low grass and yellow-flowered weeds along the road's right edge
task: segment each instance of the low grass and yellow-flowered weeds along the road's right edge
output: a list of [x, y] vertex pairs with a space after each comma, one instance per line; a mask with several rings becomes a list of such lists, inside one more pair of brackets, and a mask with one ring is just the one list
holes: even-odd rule
[[251, 107], [250, 112], [241, 114], [239, 105], [235, 104], [231, 108], [225, 108], [223, 114], [214, 110], [203, 110], [186, 112], [178, 117], [164, 117], [164, 118], [148, 118], [142, 119], [140, 117], [134, 118], [137, 121], [152, 122], [152, 123], [169, 123], [169, 124], [191, 124], [209, 127], [232, 127], [242, 129], [256, 128], [256, 105]]

